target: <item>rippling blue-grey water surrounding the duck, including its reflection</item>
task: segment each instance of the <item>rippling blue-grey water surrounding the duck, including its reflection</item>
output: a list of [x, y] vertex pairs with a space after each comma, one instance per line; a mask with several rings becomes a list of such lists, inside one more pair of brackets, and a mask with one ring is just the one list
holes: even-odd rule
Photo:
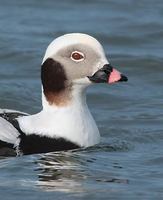
[[128, 83], [98, 85], [88, 104], [102, 141], [65, 153], [0, 159], [3, 199], [163, 198], [163, 2], [0, 1], [0, 107], [41, 109], [40, 63], [68, 32], [103, 44]]

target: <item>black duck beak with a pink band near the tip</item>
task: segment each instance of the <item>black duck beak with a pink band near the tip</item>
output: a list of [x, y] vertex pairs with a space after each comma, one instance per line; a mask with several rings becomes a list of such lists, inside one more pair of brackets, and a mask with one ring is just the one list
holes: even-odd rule
[[104, 65], [92, 76], [88, 76], [89, 80], [94, 83], [108, 83], [128, 81], [128, 78], [113, 68], [110, 64]]

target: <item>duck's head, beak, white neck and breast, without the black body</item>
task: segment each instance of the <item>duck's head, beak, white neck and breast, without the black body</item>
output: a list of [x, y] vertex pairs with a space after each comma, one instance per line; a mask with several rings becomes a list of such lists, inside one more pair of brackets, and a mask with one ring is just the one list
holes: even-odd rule
[[85, 101], [85, 88], [127, 78], [108, 63], [95, 38], [72, 33], [48, 46], [41, 80], [43, 111], [19, 118], [21, 129], [28, 134], [66, 138], [87, 147], [98, 143], [100, 135]]

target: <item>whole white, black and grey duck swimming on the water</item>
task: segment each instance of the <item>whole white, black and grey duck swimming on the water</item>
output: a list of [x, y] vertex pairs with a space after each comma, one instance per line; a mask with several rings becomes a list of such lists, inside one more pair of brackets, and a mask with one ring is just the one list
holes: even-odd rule
[[0, 155], [67, 151], [98, 144], [100, 133], [87, 106], [86, 89], [127, 80], [109, 63], [94, 37], [68, 33], [54, 39], [41, 63], [42, 110], [29, 115], [0, 109]]

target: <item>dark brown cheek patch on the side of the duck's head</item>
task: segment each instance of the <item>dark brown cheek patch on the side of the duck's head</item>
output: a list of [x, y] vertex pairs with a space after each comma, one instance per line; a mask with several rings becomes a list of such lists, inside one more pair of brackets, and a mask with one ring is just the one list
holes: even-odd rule
[[45, 97], [50, 105], [64, 106], [70, 100], [70, 89], [63, 66], [48, 58], [41, 66], [41, 80]]

